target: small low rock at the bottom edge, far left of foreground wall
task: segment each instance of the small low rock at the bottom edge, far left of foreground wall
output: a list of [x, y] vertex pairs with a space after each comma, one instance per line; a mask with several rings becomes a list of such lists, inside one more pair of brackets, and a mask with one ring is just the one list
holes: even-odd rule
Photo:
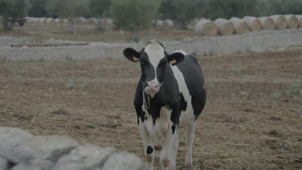
[[48, 170], [52, 165], [50, 160], [27, 159], [13, 166], [11, 170]]

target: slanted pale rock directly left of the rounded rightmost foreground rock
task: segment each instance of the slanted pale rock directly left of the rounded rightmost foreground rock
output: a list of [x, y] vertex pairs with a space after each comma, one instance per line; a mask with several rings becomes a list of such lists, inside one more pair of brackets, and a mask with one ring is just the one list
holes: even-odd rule
[[102, 167], [107, 158], [113, 153], [114, 149], [109, 147], [101, 148], [91, 144], [80, 145], [75, 147], [68, 155], [62, 156], [51, 170], [96, 169]]

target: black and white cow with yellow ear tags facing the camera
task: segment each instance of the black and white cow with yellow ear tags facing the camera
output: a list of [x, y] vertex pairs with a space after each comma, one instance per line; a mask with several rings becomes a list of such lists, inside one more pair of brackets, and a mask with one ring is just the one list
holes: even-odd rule
[[123, 51], [141, 65], [134, 105], [148, 169], [153, 169], [155, 157], [152, 139], [162, 137], [162, 169], [176, 169], [179, 128], [187, 128], [185, 169], [192, 168], [195, 124], [205, 105], [206, 90], [199, 61], [183, 53], [168, 54], [155, 39], [139, 52], [132, 48]]

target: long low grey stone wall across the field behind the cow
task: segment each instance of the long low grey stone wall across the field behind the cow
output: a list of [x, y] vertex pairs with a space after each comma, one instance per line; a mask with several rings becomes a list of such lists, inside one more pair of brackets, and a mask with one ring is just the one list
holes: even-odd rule
[[[160, 39], [159, 39], [160, 40]], [[68, 47], [22, 47], [12, 48], [11, 44], [29, 43], [28, 37], [0, 37], [0, 60], [68, 60], [98, 57], [122, 57], [123, 49], [143, 48], [145, 42], [104, 43], [91, 42], [88, 46]], [[48, 40], [47, 43], [71, 42]], [[217, 37], [188, 37], [182, 41], [162, 41], [171, 53], [183, 49], [188, 53], [211, 55], [216, 53], [283, 51], [290, 46], [302, 45], [302, 28], [250, 32], [241, 35]]]

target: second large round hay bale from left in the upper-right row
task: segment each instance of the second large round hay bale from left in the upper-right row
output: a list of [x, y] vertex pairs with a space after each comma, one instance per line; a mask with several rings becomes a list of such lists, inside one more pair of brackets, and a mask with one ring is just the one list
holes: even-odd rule
[[218, 27], [218, 34], [225, 36], [225, 35], [232, 35], [234, 32], [234, 25], [227, 19], [217, 18], [215, 19], [214, 23]]

